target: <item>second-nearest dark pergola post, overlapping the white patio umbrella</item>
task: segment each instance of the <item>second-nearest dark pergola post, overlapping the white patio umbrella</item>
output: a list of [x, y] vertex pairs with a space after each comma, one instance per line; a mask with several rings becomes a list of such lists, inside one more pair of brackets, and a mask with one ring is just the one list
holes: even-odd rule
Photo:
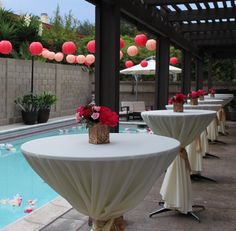
[[158, 37], [156, 57], [154, 109], [165, 109], [169, 97], [170, 40], [168, 38]]

